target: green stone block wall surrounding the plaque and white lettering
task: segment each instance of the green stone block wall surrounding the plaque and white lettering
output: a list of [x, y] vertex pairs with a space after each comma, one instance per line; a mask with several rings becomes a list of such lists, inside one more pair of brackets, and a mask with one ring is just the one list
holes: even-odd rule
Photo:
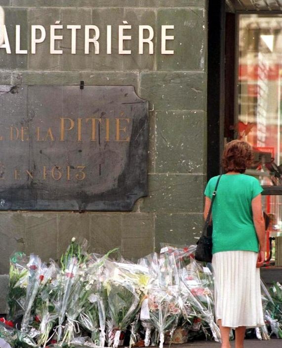
[[[136, 25], [174, 24], [174, 55], [85, 55], [78, 39], [50, 55], [48, 45], [37, 54], [6, 54], [0, 50], [0, 84], [134, 85], [150, 103], [149, 196], [132, 212], [0, 212], [0, 273], [8, 272], [14, 250], [57, 259], [73, 236], [83, 236], [96, 252], [121, 247], [125, 257], [140, 257], [161, 242], [195, 243], [202, 225], [202, 193], [206, 173], [206, 0], [0, 0], [12, 50], [16, 24], [22, 28], [22, 49], [30, 40], [31, 24], [96, 24], [101, 40], [113, 25], [113, 47], [122, 20]], [[69, 36], [70, 30], [63, 35]], [[78, 34], [80, 35], [80, 34]], [[13, 38], [13, 39], [11, 39]], [[158, 40], [155, 35], [154, 40]], [[46, 40], [48, 38], [46, 37]], [[11, 105], [12, 107], [12, 105]]]

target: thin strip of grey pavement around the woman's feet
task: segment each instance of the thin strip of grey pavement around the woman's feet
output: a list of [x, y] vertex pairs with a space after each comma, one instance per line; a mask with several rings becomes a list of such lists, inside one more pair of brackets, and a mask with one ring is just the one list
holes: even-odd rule
[[[231, 341], [231, 347], [235, 347], [235, 341]], [[164, 345], [164, 348], [168, 348], [169, 345]], [[189, 348], [189, 347], [203, 347], [203, 348], [220, 348], [220, 343], [214, 341], [194, 341], [185, 345], [171, 345], [170, 348]], [[282, 347], [282, 340], [271, 339], [269, 341], [259, 340], [245, 340], [244, 348], [279, 348]]]

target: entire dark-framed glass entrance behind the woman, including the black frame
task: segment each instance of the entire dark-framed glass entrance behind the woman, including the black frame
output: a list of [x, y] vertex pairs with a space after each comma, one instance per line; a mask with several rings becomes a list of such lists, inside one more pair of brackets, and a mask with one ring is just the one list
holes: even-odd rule
[[208, 58], [207, 176], [220, 172], [226, 142], [242, 139], [252, 146], [254, 161], [246, 174], [264, 189], [267, 251], [262, 274], [281, 281], [282, 0], [218, 5], [219, 14], [209, 5], [208, 45], [214, 56]]

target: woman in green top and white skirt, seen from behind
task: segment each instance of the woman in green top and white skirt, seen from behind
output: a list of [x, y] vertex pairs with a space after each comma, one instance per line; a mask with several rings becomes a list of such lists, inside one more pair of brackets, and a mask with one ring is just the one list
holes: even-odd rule
[[[252, 162], [251, 147], [239, 140], [223, 152], [222, 175], [212, 206], [212, 266], [214, 269], [215, 316], [222, 348], [230, 348], [230, 328], [235, 329], [235, 347], [243, 348], [246, 327], [264, 325], [259, 268], [265, 255], [265, 225], [258, 180], [245, 175]], [[218, 177], [205, 189], [204, 218], [209, 210]]]

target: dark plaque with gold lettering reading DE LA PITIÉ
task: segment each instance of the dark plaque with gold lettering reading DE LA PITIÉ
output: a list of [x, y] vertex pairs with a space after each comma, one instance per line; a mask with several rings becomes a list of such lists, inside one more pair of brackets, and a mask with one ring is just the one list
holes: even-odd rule
[[131, 210], [147, 147], [133, 86], [0, 86], [0, 209]]

